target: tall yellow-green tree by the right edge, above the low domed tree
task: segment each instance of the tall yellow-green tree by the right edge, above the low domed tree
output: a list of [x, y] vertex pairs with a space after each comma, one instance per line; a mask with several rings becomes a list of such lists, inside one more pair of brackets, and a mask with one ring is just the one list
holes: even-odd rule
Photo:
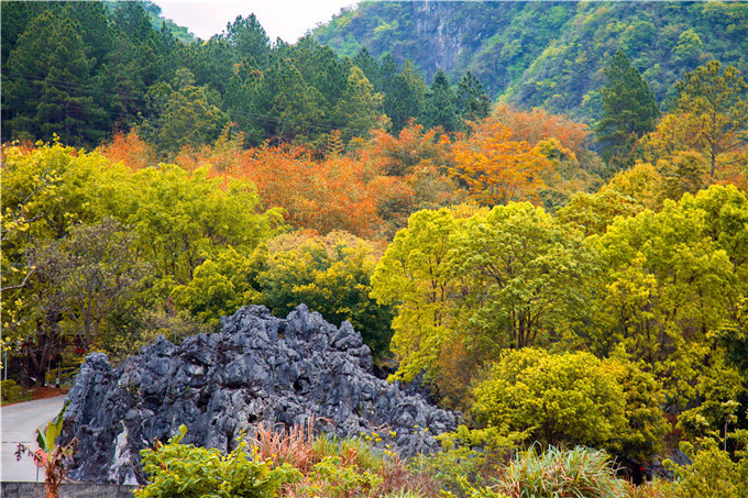
[[[697, 197], [704, 204], [729, 199], [711, 190]], [[730, 209], [713, 204], [711, 211]], [[716, 220], [707, 212], [685, 195], [678, 204], [666, 201], [659, 213], [619, 218], [604, 235], [588, 240], [606, 273], [598, 335], [588, 337], [590, 344], [603, 355], [623, 345], [663, 381], [679, 406], [695, 396], [697, 377], [715, 357], [710, 336], [730, 322], [730, 310], [745, 292], [719, 235], [715, 240], [710, 230]], [[727, 232], [741, 232], [741, 223]]]

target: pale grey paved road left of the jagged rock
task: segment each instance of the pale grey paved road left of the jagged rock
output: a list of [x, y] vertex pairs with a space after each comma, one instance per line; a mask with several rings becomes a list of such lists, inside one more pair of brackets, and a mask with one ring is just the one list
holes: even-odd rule
[[[21, 462], [15, 461], [18, 443], [25, 443], [32, 449], [36, 445], [36, 429], [46, 427], [59, 410], [63, 409], [65, 396], [37, 399], [0, 408], [0, 427], [2, 428], [2, 451], [0, 480], [31, 482], [36, 480], [36, 465], [33, 458], [24, 456]], [[40, 483], [44, 483], [44, 469], [38, 472]]]

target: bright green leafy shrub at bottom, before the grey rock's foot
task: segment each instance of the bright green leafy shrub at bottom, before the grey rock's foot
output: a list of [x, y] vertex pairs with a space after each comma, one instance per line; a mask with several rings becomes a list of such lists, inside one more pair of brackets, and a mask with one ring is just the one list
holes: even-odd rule
[[151, 484], [135, 491], [138, 498], [266, 498], [278, 496], [280, 487], [300, 478], [288, 465], [273, 468], [271, 462], [256, 462], [242, 442], [223, 455], [218, 450], [180, 444], [187, 428], [165, 445], [143, 450], [143, 468]]

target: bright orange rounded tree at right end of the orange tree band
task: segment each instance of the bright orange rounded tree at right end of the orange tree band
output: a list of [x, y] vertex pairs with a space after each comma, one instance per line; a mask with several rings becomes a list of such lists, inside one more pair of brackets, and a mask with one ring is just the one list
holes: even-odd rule
[[512, 140], [512, 130], [495, 118], [473, 125], [470, 137], [452, 145], [454, 166], [450, 175], [465, 186], [473, 200], [486, 206], [512, 200], [536, 200], [546, 187], [551, 167], [548, 158], [522, 141]]

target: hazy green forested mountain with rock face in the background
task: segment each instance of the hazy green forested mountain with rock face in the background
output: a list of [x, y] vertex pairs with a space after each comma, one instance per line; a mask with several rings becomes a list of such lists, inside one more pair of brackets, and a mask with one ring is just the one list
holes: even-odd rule
[[711, 59], [748, 68], [740, 2], [363, 2], [314, 34], [341, 55], [410, 59], [427, 79], [470, 70], [492, 98], [585, 120], [618, 48], [660, 102]]

